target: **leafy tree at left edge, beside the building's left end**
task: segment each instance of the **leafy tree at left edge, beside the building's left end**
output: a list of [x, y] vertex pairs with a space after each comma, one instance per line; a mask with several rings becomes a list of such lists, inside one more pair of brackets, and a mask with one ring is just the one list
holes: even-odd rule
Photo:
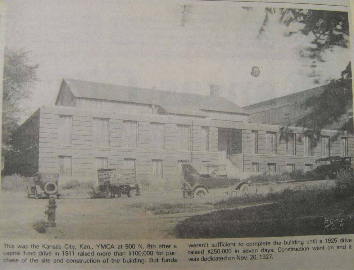
[[20, 102], [32, 97], [39, 64], [29, 64], [28, 51], [5, 48], [2, 92], [2, 156], [12, 151], [11, 134], [18, 127]]

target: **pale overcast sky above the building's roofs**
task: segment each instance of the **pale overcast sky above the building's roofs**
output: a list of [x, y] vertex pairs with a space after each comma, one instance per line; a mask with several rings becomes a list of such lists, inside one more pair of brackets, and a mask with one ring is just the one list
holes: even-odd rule
[[2, 9], [5, 45], [40, 63], [22, 120], [54, 105], [62, 78], [204, 95], [219, 84], [224, 97], [246, 106], [326, 84], [350, 59], [349, 49], [326, 51], [309, 77], [312, 60], [299, 50], [312, 35], [284, 36], [290, 28], [278, 13], [259, 34], [264, 8], [232, 2], [3, 0]]

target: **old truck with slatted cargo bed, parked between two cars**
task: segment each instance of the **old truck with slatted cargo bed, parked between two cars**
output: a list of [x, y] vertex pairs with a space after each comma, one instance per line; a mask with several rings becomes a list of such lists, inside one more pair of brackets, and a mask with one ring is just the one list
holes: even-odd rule
[[136, 195], [140, 195], [140, 188], [136, 182], [135, 171], [133, 169], [108, 169], [101, 168], [98, 172], [98, 189], [93, 190], [93, 197], [104, 194], [107, 199], [121, 197], [126, 194], [131, 197], [131, 191], [135, 190]]

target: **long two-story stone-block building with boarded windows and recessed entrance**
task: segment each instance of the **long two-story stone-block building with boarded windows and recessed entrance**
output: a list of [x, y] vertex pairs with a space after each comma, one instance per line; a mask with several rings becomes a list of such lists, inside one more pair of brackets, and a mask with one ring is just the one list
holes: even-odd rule
[[[79, 91], [86, 82], [78, 84], [79, 90], [64, 80], [56, 106], [39, 108], [17, 129], [17, 152], [7, 159], [6, 173], [57, 172], [61, 181], [95, 182], [98, 168], [126, 167], [136, 171], [138, 182], [169, 189], [179, 186], [183, 163], [227, 160], [240, 172], [276, 173], [311, 170], [319, 157], [354, 154], [353, 137], [337, 136], [335, 130], [323, 130], [313, 149], [301, 128], [292, 128], [287, 142], [280, 140], [281, 126], [248, 123], [247, 114], [218, 97], [215, 86], [210, 96], [155, 90], [149, 103], [136, 98], [136, 90], [119, 97], [110, 85], [105, 87], [119, 98], [99, 99], [94, 91], [92, 97], [82, 97]], [[105, 95], [100, 84], [89, 83], [93, 86]], [[151, 90], [138, 91], [147, 96]], [[164, 95], [172, 100], [161, 100]], [[213, 104], [208, 107], [208, 102]], [[170, 108], [169, 103], [177, 106]]]

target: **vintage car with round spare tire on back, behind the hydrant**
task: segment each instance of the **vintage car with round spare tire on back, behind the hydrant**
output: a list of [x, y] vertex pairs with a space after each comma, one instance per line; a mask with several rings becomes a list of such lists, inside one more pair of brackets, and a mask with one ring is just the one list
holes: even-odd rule
[[27, 197], [34, 196], [34, 198], [39, 199], [54, 195], [59, 199], [58, 180], [59, 174], [57, 173], [36, 173], [28, 178]]

